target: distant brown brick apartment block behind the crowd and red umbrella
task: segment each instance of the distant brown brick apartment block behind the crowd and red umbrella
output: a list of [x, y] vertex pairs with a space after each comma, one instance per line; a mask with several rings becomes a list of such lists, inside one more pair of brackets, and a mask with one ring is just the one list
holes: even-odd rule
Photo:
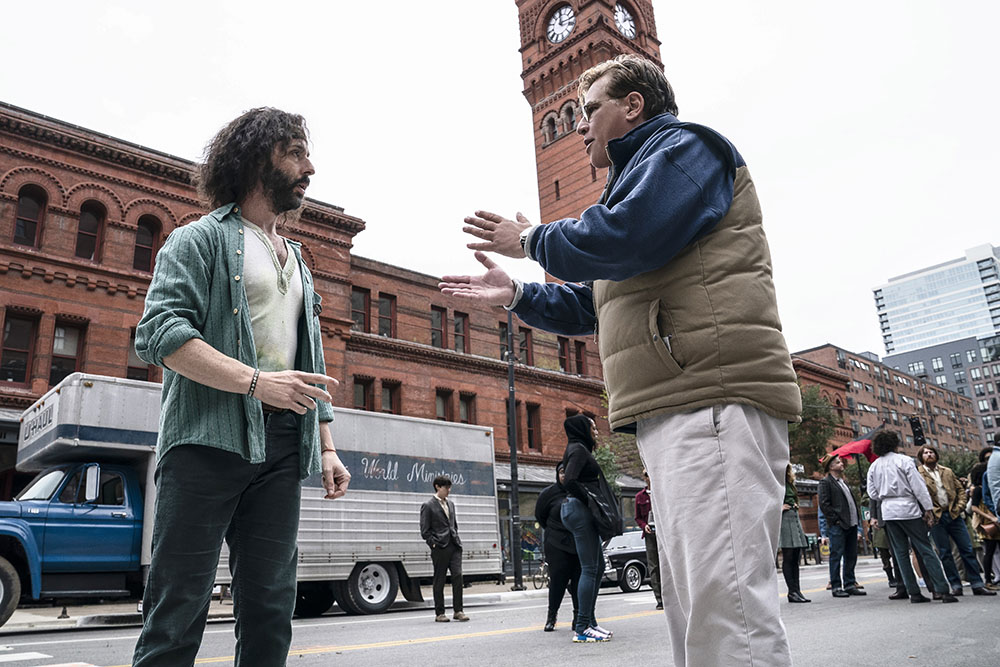
[[845, 420], [851, 439], [885, 425], [902, 432], [904, 453], [915, 454], [908, 419], [916, 417], [927, 443], [942, 453], [976, 452], [980, 448], [979, 420], [968, 396], [881, 363], [873, 354], [856, 354], [835, 345], [792, 356], [847, 374]]

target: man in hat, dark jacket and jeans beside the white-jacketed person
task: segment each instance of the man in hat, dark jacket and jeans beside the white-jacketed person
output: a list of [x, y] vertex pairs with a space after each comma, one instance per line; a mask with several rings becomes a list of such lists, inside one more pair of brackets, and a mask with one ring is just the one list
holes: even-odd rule
[[[827, 475], [819, 482], [819, 506], [826, 517], [830, 538], [830, 583], [833, 597], [866, 595], [858, 588], [854, 566], [858, 562], [858, 502], [844, 482], [844, 461], [839, 456], [823, 464]], [[840, 564], [844, 571], [841, 578]]]

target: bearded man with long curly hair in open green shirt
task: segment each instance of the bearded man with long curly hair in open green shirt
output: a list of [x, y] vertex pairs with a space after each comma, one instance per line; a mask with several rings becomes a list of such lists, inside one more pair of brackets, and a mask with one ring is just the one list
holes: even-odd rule
[[309, 177], [301, 116], [246, 112], [209, 143], [199, 190], [215, 209], [157, 255], [136, 352], [163, 366], [153, 554], [136, 667], [193, 665], [222, 541], [236, 665], [285, 664], [296, 597], [301, 480], [347, 491], [328, 422], [320, 297], [278, 223]]

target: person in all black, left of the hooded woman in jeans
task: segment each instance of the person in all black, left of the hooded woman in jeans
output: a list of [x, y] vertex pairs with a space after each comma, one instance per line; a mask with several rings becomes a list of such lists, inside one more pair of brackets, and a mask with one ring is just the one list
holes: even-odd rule
[[579, 615], [577, 604], [577, 586], [580, 584], [580, 558], [576, 555], [576, 543], [573, 534], [566, 530], [559, 518], [562, 503], [566, 500], [566, 489], [563, 480], [566, 478], [566, 466], [560, 463], [556, 466], [556, 482], [542, 489], [535, 503], [535, 519], [545, 530], [542, 545], [545, 550], [545, 562], [549, 564], [549, 613], [545, 619], [545, 632], [552, 632], [556, 627], [556, 614], [559, 605], [566, 595], [566, 589], [573, 598], [573, 626]]

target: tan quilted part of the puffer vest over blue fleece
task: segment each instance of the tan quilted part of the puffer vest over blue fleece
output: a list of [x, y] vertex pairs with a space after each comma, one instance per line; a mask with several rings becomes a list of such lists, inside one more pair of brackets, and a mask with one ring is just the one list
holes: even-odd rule
[[798, 421], [760, 204], [745, 166], [729, 212], [664, 267], [594, 283], [615, 430], [663, 412], [743, 403]]

